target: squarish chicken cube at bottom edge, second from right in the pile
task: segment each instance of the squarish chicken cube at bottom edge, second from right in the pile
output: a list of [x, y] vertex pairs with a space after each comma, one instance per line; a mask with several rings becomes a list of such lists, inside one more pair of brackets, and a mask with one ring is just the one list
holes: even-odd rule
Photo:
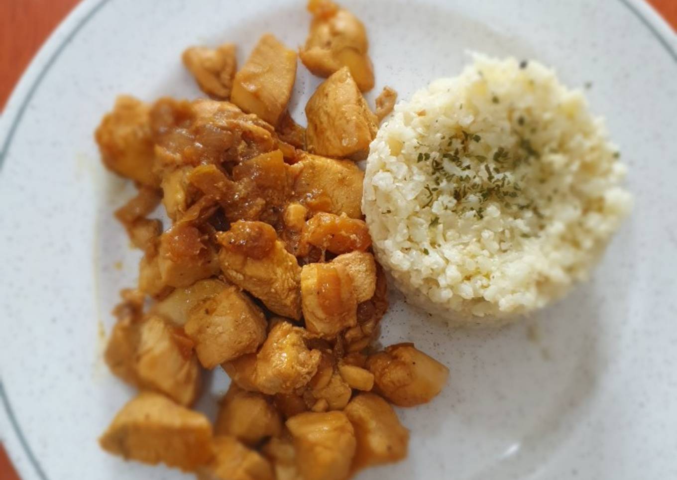
[[343, 412], [307, 412], [286, 426], [303, 480], [345, 480], [355, 456], [355, 431]]

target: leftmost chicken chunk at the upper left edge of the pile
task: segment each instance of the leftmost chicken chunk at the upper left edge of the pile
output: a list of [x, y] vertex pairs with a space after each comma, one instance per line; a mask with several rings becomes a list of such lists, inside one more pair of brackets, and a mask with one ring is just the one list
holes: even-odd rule
[[108, 169], [147, 186], [159, 185], [153, 171], [149, 108], [144, 102], [119, 96], [97, 127], [95, 138]]

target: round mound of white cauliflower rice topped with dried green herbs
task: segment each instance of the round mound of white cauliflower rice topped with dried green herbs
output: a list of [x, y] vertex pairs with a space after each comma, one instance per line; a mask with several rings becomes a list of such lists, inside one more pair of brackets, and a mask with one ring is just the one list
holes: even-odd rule
[[400, 103], [371, 144], [363, 210], [409, 301], [500, 324], [586, 280], [630, 210], [603, 120], [537, 62], [475, 56]]

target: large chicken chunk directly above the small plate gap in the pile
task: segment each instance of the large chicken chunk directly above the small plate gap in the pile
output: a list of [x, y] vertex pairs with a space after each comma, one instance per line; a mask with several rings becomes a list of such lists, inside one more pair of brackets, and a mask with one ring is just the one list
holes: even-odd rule
[[268, 324], [263, 311], [236, 286], [199, 303], [185, 323], [204, 368], [254, 353], [263, 343]]

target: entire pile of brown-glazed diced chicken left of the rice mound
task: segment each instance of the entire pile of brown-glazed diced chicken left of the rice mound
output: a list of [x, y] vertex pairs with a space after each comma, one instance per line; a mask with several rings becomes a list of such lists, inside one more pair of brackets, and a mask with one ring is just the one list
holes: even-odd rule
[[[137, 186], [115, 215], [144, 252], [105, 352], [139, 389], [100, 438], [112, 454], [203, 480], [347, 479], [406, 457], [388, 402], [425, 403], [445, 384], [412, 344], [372, 349], [387, 284], [353, 160], [396, 93], [374, 114], [364, 25], [328, 0], [308, 9], [298, 56], [327, 79], [307, 128], [287, 110], [297, 52], [265, 34], [239, 70], [232, 44], [183, 53], [211, 99], [121, 96], [96, 130], [106, 167]], [[148, 218], [160, 202], [168, 228]], [[214, 425], [190, 410], [202, 368], [232, 379]]]

